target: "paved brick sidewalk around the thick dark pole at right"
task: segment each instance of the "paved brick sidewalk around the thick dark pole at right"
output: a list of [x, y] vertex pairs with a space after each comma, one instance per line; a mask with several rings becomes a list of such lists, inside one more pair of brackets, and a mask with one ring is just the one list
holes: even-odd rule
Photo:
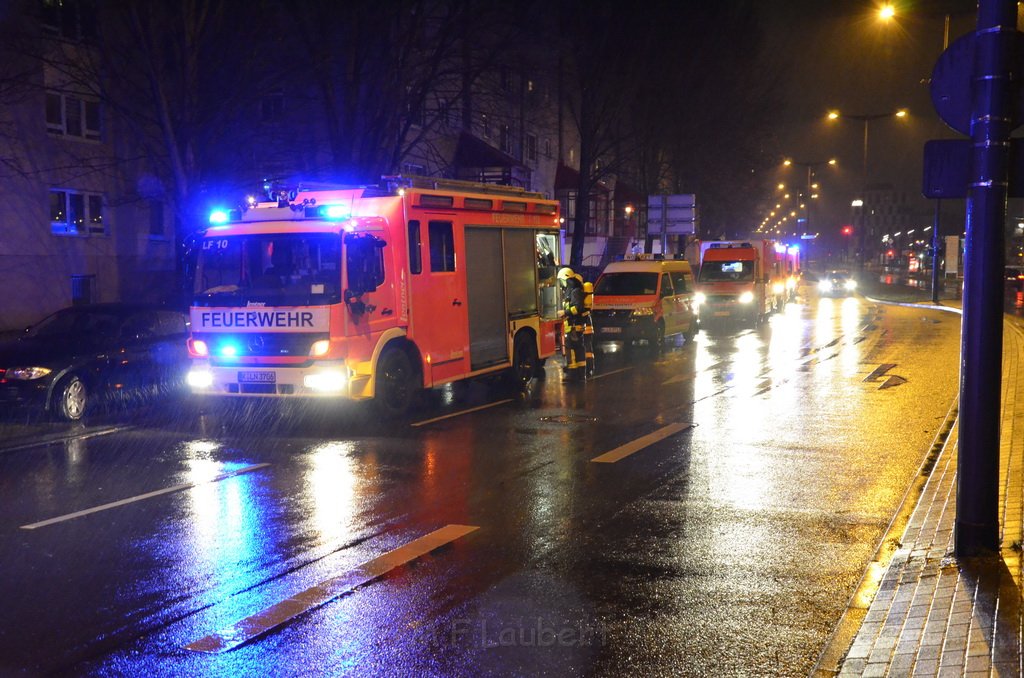
[[[1000, 557], [951, 556], [958, 432], [953, 423], [877, 590], [855, 596], [844, 617], [854, 625], [862, 617], [852, 641], [838, 630], [813, 675], [1024, 675], [1024, 322], [1005, 317]], [[878, 575], [869, 568], [865, 582], [872, 577]]]

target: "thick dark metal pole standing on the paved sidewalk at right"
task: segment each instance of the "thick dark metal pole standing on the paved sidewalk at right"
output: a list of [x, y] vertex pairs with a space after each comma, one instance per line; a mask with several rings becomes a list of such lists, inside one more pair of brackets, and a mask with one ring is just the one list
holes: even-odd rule
[[956, 557], [999, 547], [1002, 265], [1010, 166], [1016, 0], [979, 0], [971, 99], [971, 183], [964, 256]]

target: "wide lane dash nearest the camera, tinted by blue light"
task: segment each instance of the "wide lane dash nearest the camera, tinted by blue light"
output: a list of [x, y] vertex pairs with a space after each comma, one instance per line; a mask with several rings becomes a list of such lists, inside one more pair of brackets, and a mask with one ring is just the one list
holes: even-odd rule
[[344, 575], [333, 577], [286, 598], [231, 626], [185, 645], [194, 652], [215, 654], [226, 652], [256, 636], [289, 622], [299, 615], [315, 609], [352, 589], [362, 586], [411, 560], [479, 529], [475, 525], [445, 525], [393, 551], [365, 562]]

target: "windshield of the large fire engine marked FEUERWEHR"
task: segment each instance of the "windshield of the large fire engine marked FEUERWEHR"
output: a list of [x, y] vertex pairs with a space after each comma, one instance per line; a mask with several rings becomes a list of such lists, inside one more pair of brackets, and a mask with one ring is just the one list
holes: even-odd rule
[[341, 238], [337, 234], [208, 236], [194, 286], [199, 303], [268, 306], [337, 303]]

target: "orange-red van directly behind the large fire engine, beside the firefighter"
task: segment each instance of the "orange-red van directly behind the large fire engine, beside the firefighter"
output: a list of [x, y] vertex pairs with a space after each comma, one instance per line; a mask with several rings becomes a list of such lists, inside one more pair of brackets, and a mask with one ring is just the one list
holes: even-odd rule
[[696, 308], [688, 261], [615, 261], [594, 285], [594, 339], [627, 345], [645, 342], [655, 349], [662, 348], [665, 337], [674, 334], [690, 341], [697, 333]]

